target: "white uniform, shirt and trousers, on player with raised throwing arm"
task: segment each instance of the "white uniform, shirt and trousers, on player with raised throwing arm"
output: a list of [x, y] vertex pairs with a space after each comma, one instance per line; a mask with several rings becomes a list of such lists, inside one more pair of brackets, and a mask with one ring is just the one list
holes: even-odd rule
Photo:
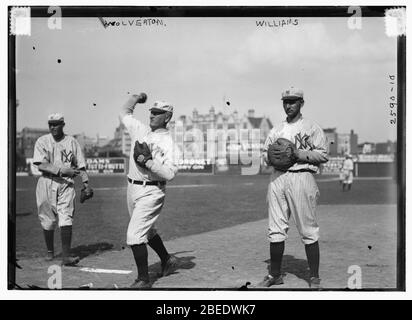
[[[122, 122], [128, 130], [132, 150], [130, 152], [128, 177], [137, 181], [168, 181], [175, 177], [178, 167], [178, 148], [167, 129], [152, 132], [150, 127], [135, 119], [131, 114], [124, 115]], [[136, 140], [146, 142], [153, 161], [148, 161], [145, 169], [133, 159]], [[149, 164], [150, 162], [150, 164]], [[166, 187], [158, 185], [139, 185], [128, 183], [127, 207], [130, 222], [127, 228], [127, 244], [147, 243], [155, 234], [155, 222], [159, 217], [165, 200]]]

